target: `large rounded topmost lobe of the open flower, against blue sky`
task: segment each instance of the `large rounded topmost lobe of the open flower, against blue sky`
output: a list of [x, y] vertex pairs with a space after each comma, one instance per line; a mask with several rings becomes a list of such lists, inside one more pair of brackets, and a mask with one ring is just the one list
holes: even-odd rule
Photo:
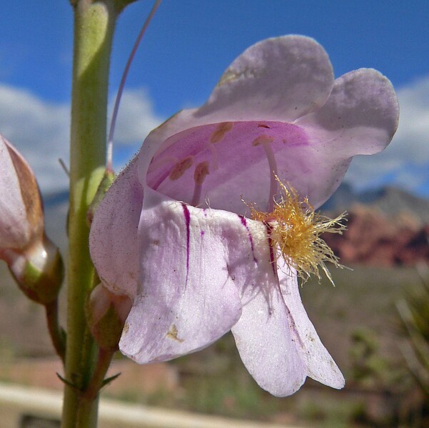
[[291, 122], [322, 106], [332, 86], [328, 54], [315, 40], [266, 39], [233, 61], [196, 116]]

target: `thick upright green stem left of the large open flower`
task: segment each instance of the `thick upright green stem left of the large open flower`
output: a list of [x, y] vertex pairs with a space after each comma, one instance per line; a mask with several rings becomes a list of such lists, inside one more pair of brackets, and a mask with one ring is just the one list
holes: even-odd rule
[[66, 349], [66, 381], [74, 387], [65, 386], [62, 428], [96, 427], [96, 399], [86, 403], [85, 414], [79, 411], [97, 352], [85, 313], [94, 277], [86, 212], [104, 174], [108, 69], [117, 13], [114, 0], [74, 1]]

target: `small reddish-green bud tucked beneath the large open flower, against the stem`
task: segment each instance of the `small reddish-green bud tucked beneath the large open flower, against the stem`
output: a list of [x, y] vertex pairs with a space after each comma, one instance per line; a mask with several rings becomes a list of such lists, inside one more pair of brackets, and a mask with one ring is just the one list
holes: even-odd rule
[[131, 306], [128, 296], [113, 294], [103, 284], [92, 290], [87, 305], [87, 319], [91, 333], [101, 349], [118, 349]]

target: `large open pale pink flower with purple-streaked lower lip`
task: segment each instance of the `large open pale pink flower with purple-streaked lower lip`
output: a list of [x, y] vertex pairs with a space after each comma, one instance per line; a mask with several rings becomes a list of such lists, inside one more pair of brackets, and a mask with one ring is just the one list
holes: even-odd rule
[[164, 361], [231, 329], [271, 394], [307, 376], [343, 387], [301, 303], [299, 266], [271, 239], [281, 218], [246, 215], [253, 206], [270, 217], [288, 194], [321, 206], [352, 157], [384, 149], [397, 125], [390, 81], [373, 69], [334, 80], [313, 39], [244, 51], [206, 104], [148, 135], [96, 210], [91, 257], [104, 286], [133, 299], [121, 352]]

